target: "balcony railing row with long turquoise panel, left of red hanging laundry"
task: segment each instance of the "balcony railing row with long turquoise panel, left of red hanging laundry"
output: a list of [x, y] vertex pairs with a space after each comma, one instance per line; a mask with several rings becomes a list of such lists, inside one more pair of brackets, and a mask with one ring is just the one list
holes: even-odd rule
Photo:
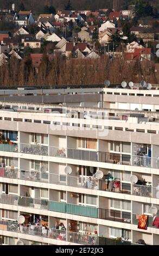
[[63, 212], [66, 214], [86, 216], [91, 218], [100, 218], [103, 220], [131, 223], [131, 214], [129, 212], [54, 202], [39, 198], [14, 196], [11, 194], [0, 194], [0, 203], [24, 206], [26, 208], [34, 208], [39, 210]]

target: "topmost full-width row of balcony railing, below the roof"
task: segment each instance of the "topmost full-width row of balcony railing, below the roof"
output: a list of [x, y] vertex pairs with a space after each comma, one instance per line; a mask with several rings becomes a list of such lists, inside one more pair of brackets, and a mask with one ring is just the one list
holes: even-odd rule
[[124, 153], [110, 153], [94, 150], [81, 150], [19, 143], [14, 145], [0, 144], [0, 151], [18, 152], [24, 154], [67, 157], [76, 160], [124, 164], [159, 169], [159, 157], [136, 156]]

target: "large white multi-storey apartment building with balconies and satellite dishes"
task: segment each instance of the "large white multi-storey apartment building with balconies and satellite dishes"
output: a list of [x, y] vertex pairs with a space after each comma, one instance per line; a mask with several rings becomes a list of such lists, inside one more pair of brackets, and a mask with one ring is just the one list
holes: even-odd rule
[[157, 89], [1, 90], [1, 244], [159, 245]]

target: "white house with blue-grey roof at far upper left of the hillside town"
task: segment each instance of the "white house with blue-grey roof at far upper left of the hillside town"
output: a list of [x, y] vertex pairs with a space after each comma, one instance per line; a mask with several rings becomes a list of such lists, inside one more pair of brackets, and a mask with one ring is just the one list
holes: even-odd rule
[[35, 23], [35, 19], [32, 13], [29, 11], [24, 11], [24, 12], [19, 12], [18, 14], [16, 13], [13, 18], [13, 22], [17, 26], [27, 26]]

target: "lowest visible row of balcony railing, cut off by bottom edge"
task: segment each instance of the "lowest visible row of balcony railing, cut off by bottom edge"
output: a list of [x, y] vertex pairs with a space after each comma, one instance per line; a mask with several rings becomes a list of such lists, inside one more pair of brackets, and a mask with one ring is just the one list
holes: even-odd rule
[[70, 243], [79, 243], [80, 245], [131, 245], [131, 242], [122, 240], [122, 237], [120, 237], [120, 240], [115, 240], [97, 235], [87, 235], [54, 228], [44, 229], [38, 225], [30, 224], [29, 227], [26, 227], [25, 225], [20, 225], [12, 221], [0, 221], [0, 230], [47, 237], [49, 239], [67, 241]]

